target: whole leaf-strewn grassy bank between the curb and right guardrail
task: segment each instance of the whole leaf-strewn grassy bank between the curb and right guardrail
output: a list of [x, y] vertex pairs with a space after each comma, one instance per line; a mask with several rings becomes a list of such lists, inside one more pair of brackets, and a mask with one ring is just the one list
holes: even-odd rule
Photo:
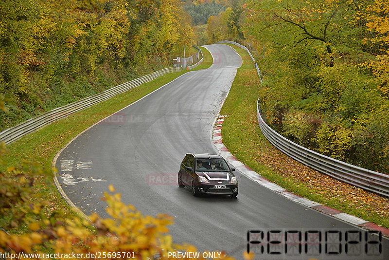
[[336, 181], [303, 166], [275, 149], [257, 121], [259, 78], [248, 53], [231, 45], [242, 57], [220, 114], [223, 143], [242, 163], [270, 181], [310, 200], [389, 228], [389, 199]]

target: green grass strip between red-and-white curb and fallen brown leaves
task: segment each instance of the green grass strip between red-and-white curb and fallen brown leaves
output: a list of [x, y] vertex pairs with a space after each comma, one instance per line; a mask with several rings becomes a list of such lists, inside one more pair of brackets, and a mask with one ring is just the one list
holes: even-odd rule
[[386, 214], [379, 212], [374, 201], [371, 204], [363, 204], [357, 199], [332, 196], [331, 187], [327, 187], [327, 190], [315, 190], [299, 180], [285, 178], [280, 172], [258, 162], [260, 157], [272, 160], [272, 153], [278, 151], [265, 139], [258, 126], [256, 101], [260, 84], [253, 62], [245, 50], [230, 46], [243, 59], [243, 65], [238, 69], [230, 93], [220, 111], [221, 115], [228, 115], [223, 123], [222, 137], [230, 152], [252, 170], [293, 193], [389, 228]]

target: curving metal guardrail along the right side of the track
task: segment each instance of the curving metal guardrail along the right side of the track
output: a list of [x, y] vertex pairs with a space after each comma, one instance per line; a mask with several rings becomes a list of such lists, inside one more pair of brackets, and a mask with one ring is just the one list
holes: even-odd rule
[[[248, 49], [236, 42], [222, 41], [220, 43], [235, 44], [242, 49], [248, 51]], [[248, 51], [250, 54], [250, 52]], [[260, 72], [258, 65], [255, 63], [254, 58], [250, 54], [254, 61], [258, 75]], [[260, 76], [261, 78], [261, 76]], [[262, 117], [261, 108], [259, 107], [259, 101], [257, 100], [257, 118], [259, 127], [266, 137], [266, 139], [277, 149], [281, 150], [286, 155], [301, 162], [302, 164], [309, 166], [317, 171], [327, 174], [336, 180], [363, 188], [365, 190], [389, 197], [389, 175], [380, 172], [375, 172], [365, 168], [357, 167], [351, 164], [344, 163], [334, 158], [322, 155], [313, 150], [304, 148], [277, 133], [271, 129], [264, 121]]]

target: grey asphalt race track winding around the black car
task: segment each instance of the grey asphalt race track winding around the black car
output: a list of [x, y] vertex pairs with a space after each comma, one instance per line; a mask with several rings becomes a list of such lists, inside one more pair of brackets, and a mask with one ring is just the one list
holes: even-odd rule
[[[97, 212], [107, 217], [100, 197], [113, 184], [124, 203], [143, 214], [174, 216], [170, 233], [175, 242], [192, 243], [202, 251], [224, 250], [237, 259], [246, 249], [248, 230], [353, 229], [259, 186], [238, 171], [237, 199], [193, 197], [189, 189], [177, 186], [185, 153], [216, 152], [212, 124], [241, 66], [240, 56], [229, 46], [206, 47], [214, 57], [210, 69], [182, 75], [90, 128], [62, 151], [56, 161], [58, 180], [71, 201], [87, 215]], [[378, 259], [389, 256], [388, 241], [383, 247], [385, 255]]]

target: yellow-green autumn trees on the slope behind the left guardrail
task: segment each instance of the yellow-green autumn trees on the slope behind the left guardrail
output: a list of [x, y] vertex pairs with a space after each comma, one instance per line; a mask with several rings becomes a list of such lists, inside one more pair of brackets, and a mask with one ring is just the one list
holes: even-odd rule
[[193, 31], [179, 0], [0, 2], [0, 130], [171, 64]]

